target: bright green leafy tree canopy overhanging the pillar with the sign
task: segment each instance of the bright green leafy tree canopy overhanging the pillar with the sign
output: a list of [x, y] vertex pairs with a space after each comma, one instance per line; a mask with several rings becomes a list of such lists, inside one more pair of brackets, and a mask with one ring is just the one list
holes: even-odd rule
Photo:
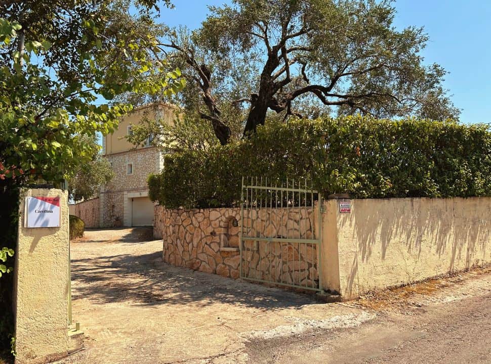
[[27, 174], [68, 178], [94, 155], [83, 141], [112, 131], [132, 109], [96, 100], [182, 88], [159, 54], [154, 5], [0, 2], [0, 178], [14, 185]]

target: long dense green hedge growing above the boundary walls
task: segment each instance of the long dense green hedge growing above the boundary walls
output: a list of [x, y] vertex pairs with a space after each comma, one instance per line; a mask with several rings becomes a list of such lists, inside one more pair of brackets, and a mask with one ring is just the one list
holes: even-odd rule
[[242, 176], [309, 178], [324, 198], [491, 195], [491, 132], [453, 121], [349, 116], [267, 123], [208, 152], [168, 155], [149, 176], [150, 198], [170, 208], [232, 206]]

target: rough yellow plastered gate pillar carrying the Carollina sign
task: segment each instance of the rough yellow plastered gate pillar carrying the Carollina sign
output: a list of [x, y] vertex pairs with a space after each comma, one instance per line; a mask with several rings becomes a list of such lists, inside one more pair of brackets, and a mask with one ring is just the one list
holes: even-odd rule
[[[60, 196], [60, 228], [24, 228], [24, 197]], [[19, 205], [15, 251], [16, 364], [48, 362], [68, 354], [68, 195], [25, 190]]]

